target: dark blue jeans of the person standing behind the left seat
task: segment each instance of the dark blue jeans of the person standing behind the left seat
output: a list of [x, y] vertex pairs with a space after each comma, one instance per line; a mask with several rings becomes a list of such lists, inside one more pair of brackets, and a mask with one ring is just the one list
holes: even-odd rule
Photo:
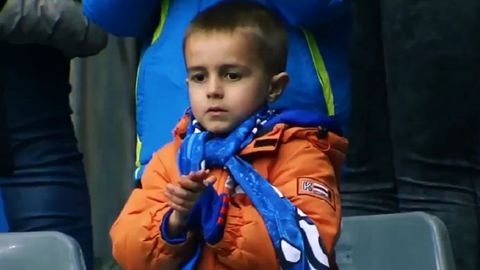
[[8, 150], [0, 190], [10, 231], [66, 233], [93, 269], [90, 200], [70, 120], [68, 78], [69, 60], [60, 52], [0, 44], [0, 138]]

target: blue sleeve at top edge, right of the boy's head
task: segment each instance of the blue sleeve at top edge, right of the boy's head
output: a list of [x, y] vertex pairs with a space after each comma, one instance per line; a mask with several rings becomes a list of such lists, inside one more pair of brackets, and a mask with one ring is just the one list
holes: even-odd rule
[[349, 0], [256, 0], [276, 10], [290, 25], [313, 28], [345, 15]]

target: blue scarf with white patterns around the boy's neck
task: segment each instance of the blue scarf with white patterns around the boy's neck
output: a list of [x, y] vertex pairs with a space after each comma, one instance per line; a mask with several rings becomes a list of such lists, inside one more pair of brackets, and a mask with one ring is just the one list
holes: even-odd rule
[[[226, 137], [204, 131], [191, 115], [191, 123], [178, 153], [178, 165], [183, 175], [205, 168], [225, 168], [238, 183], [260, 213], [281, 269], [329, 269], [319, 232], [313, 221], [296, 208], [278, 189], [263, 178], [249, 163], [237, 156], [262, 128], [277, 123], [296, 126], [332, 126], [332, 121], [318, 114], [289, 111], [274, 114], [267, 109], [245, 120]], [[217, 194], [207, 187], [189, 217], [189, 228], [201, 228], [203, 238], [215, 244], [223, 237], [228, 195]], [[182, 269], [195, 269], [204, 242], [198, 244], [195, 255]]]

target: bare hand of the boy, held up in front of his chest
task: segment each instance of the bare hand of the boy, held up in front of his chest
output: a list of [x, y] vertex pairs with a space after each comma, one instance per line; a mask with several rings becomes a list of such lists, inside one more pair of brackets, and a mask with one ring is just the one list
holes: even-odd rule
[[216, 181], [215, 176], [208, 177], [209, 170], [191, 172], [180, 177], [179, 185], [168, 184], [165, 196], [170, 200], [173, 212], [168, 221], [171, 236], [178, 235], [186, 222], [188, 214], [208, 185]]

